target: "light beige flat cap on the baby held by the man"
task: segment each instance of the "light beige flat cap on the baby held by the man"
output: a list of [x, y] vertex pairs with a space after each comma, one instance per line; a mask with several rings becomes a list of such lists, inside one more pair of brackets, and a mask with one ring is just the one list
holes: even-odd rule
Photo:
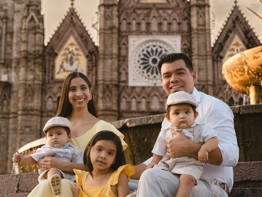
[[195, 107], [198, 106], [198, 103], [193, 95], [188, 94], [187, 92], [184, 91], [178, 91], [168, 96], [165, 109], [167, 109], [167, 107], [170, 105], [175, 105], [179, 103], [189, 103]]

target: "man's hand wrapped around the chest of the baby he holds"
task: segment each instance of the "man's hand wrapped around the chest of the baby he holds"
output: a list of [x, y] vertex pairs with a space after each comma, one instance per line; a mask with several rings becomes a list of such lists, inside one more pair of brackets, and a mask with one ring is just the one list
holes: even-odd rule
[[167, 138], [165, 140], [166, 147], [168, 148], [167, 157], [181, 157], [188, 155], [187, 149], [191, 141], [181, 132], [171, 131], [176, 136], [174, 138]]

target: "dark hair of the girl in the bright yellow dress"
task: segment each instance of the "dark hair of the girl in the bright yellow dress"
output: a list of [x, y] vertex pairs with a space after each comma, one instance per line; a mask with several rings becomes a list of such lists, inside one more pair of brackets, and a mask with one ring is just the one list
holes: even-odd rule
[[112, 170], [117, 170], [118, 167], [126, 164], [126, 159], [124, 156], [123, 146], [122, 146], [120, 138], [112, 131], [99, 131], [97, 134], [95, 134], [92, 137], [92, 139], [86, 145], [86, 149], [85, 149], [84, 157], [83, 157], [85, 167], [87, 171], [90, 172], [90, 175], [92, 177], [93, 177], [92, 175], [93, 165], [90, 159], [90, 151], [91, 151], [91, 148], [100, 140], [111, 140], [117, 147], [115, 162], [110, 167]]

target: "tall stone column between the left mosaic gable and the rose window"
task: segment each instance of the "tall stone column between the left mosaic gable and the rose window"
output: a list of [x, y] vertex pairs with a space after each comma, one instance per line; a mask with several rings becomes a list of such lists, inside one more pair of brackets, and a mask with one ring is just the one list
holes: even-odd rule
[[118, 118], [118, 3], [100, 0], [99, 56], [97, 66], [97, 115]]

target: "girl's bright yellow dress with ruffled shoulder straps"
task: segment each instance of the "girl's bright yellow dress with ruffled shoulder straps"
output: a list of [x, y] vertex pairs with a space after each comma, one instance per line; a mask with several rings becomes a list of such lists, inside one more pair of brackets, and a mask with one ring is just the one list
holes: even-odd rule
[[116, 185], [118, 183], [120, 172], [124, 172], [128, 176], [129, 181], [130, 176], [135, 173], [135, 170], [130, 164], [120, 166], [113, 172], [106, 185], [101, 186], [85, 186], [84, 183], [89, 172], [77, 169], [74, 169], [74, 172], [76, 173], [76, 183], [80, 188], [79, 197], [117, 197], [113, 193], [110, 185]]

